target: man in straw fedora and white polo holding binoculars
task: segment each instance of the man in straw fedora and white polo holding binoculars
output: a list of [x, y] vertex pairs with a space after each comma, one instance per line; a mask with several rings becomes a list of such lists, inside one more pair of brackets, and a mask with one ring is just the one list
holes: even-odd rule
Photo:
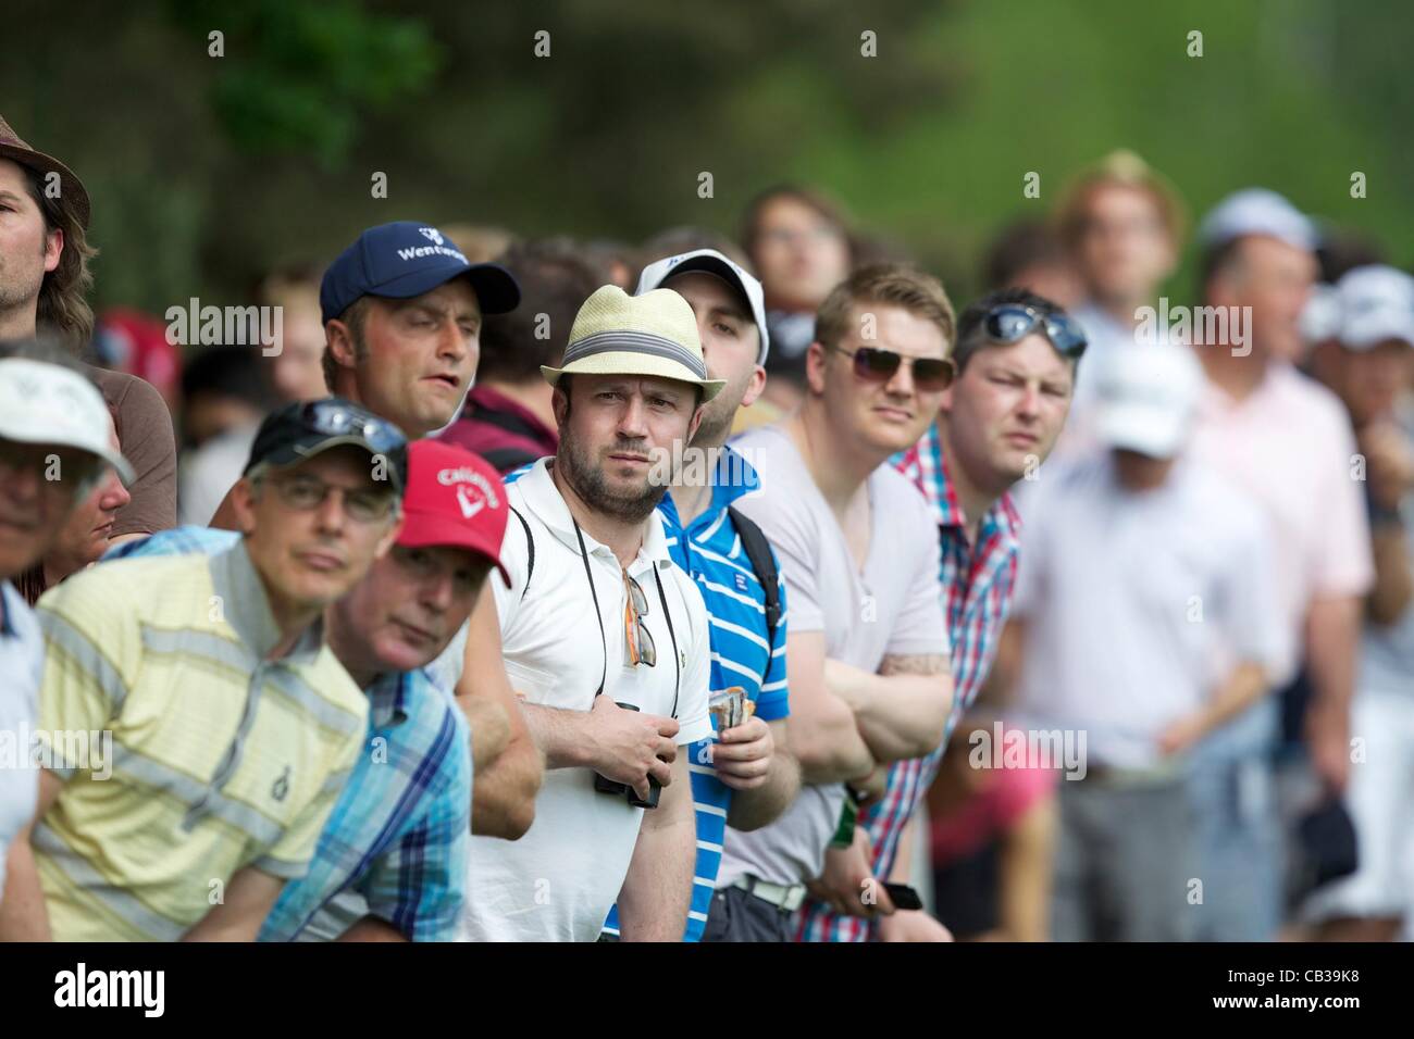
[[682, 295], [615, 286], [542, 372], [560, 450], [510, 485], [509, 587], [492, 584], [546, 777], [525, 837], [472, 838], [461, 936], [592, 941], [617, 898], [624, 940], [677, 941], [696, 855], [677, 748], [711, 732], [710, 643], [655, 512], [670, 482], [655, 459], [682, 455], [724, 383]]

